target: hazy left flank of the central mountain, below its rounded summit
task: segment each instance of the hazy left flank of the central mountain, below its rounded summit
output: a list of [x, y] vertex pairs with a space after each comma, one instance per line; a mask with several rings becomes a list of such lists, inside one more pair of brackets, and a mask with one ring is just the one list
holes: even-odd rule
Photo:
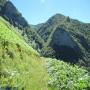
[[[46, 23], [43, 23], [38, 28], [38, 33], [41, 35], [41, 37], [44, 39], [44, 41], [47, 41], [50, 33], [60, 24], [64, 21], [65, 16], [61, 14], [56, 14], [55, 16], [52, 16]], [[38, 25], [37, 25], [38, 27]]]

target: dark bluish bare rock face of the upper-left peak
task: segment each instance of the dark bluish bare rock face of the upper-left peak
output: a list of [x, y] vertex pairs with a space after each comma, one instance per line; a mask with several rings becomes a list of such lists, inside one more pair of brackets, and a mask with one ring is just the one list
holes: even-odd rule
[[16, 7], [10, 2], [7, 1], [2, 8], [2, 16], [7, 19], [11, 24], [19, 28], [27, 27], [27, 21], [22, 17]]

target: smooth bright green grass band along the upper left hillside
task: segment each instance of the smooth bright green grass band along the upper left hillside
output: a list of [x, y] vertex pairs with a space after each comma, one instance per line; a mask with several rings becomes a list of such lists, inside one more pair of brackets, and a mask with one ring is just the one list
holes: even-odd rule
[[[29, 49], [32, 53], [38, 54], [34, 49], [28, 46], [27, 43], [23, 40], [22, 37], [20, 37], [19, 33], [18, 35], [15, 34], [15, 28], [11, 26], [8, 22], [6, 22], [4, 19], [0, 18], [0, 38], [5, 41], [9, 41], [11, 43], [19, 44], [21, 47]], [[14, 32], [14, 33], [13, 33]], [[20, 39], [21, 38], [21, 39]]]

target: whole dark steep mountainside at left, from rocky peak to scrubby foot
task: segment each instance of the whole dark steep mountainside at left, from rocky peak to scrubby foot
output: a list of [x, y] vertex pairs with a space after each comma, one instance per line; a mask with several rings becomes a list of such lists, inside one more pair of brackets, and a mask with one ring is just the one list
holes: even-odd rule
[[26, 42], [40, 51], [39, 48], [43, 47], [43, 40], [36, 31], [32, 29], [31, 25], [28, 24], [11, 1], [0, 0], [0, 16], [6, 19], [14, 27], [19, 28], [18, 32], [25, 38]]

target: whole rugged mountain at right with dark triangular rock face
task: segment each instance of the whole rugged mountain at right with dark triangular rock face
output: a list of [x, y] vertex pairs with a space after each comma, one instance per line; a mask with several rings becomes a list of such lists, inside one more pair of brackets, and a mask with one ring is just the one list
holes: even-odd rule
[[41, 24], [37, 33], [45, 42], [41, 50], [43, 56], [90, 66], [89, 23], [56, 14]]

